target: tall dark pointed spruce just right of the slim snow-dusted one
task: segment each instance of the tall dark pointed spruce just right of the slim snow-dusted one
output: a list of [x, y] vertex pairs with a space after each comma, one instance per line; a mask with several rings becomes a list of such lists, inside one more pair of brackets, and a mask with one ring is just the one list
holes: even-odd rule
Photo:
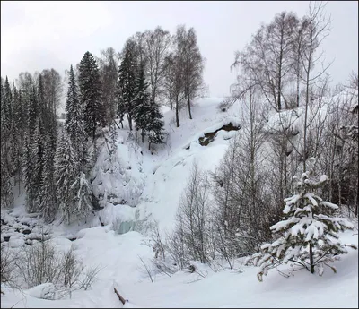
[[80, 101], [83, 107], [85, 130], [95, 140], [96, 128], [106, 124], [106, 111], [101, 101], [101, 79], [95, 58], [90, 52], [83, 55], [79, 66]]

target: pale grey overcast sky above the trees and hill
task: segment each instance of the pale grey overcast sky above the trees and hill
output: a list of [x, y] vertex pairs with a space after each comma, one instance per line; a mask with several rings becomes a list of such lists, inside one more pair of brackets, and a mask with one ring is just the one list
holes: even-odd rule
[[[64, 75], [89, 50], [114, 47], [120, 51], [136, 31], [157, 25], [174, 33], [186, 24], [197, 31], [198, 46], [206, 57], [205, 82], [210, 95], [229, 94], [234, 81], [230, 65], [261, 22], [281, 11], [302, 16], [309, 2], [1, 2], [1, 76], [12, 81], [24, 71], [55, 68]], [[331, 33], [323, 43], [333, 82], [346, 82], [358, 68], [358, 3], [328, 2]]]

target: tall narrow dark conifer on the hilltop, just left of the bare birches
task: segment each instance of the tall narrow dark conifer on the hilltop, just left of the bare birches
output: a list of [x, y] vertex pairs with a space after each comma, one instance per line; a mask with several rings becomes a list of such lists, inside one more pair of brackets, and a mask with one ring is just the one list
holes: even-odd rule
[[128, 40], [118, 69], [118, 116], [127, 115], [131, 131], [136, 98], [136, 70], [136, 43]]

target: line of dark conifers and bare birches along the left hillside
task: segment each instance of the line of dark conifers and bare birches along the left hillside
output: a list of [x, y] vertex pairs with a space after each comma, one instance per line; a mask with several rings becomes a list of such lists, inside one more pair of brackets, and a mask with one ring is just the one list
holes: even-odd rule
[[[127, 39], [121, 53], [86, 52], [66, 72], [66, 120], [57, 121], [63, 95], [56, 70], [21, 73], [16, 86], [1, 80], [1, 207], [13, 205], [12, 182], [24, 185], [29, 212], [47, 222], [60, 210], [68, 222], [96, 209], [89, 172], [97, 159], [97, 137], [109, 126], [110, 151], [118, 123], [151, 144], [164, 142], [161, 106], [188, 108], [203, 90], [204, 58], [193, 28], [176, 33], [157, 27]], [[118, 123], [115, 119], [118, 119]], [[119, 126], [118, 126], [119, 128]], [[101, 134], [100, 134], [101, 135]], [[108, 141], [106, 139], [106, 141]]]

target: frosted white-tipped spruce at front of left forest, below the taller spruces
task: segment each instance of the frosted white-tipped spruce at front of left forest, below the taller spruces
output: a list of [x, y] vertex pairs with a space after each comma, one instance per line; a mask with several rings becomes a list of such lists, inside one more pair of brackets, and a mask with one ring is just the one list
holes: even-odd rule
[[72, 142], [66, 130], [63, 130], [57, 142], [55, 155], [55, 185], [58, 207], [67, 223], [71, 222], [74, 214], [74, 193], [71, 186], [78, 173], [75, 155]]

